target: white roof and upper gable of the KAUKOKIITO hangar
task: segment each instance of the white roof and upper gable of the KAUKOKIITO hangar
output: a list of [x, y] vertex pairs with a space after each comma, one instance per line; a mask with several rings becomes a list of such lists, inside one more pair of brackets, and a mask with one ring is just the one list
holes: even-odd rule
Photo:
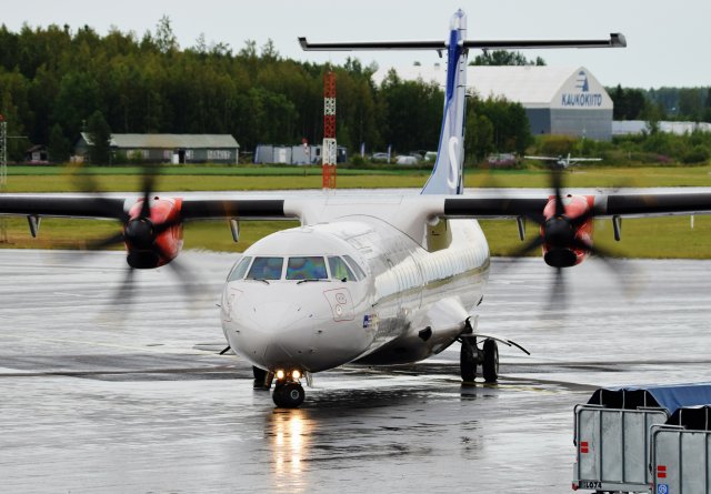
[[[383, 68], [373, 74], [373, 81], [380, 84], [390, 69], [394, 69], [404, 80], [422, 79], [425, 82], [444, 84], [447, 79], [447, 67], [435, 64]], [[585, 89], [582, 88], [583, 84]], [[582, 94], [583, 92], [601, 95], [601, 104], [595, 104], [595, 108], [612, 108], [612, 101], [604, 88], [584, 67], [469, 65], [467, 85], [482, 98], [503, 97], [527, 108], [561, 107], [562, 94]], [[580, 100], [578, 99], [577, 102]], [[570, 100], [570, 104], [563, 102], [562, 107], [587, 107], [574, 103], [575, 101]]]

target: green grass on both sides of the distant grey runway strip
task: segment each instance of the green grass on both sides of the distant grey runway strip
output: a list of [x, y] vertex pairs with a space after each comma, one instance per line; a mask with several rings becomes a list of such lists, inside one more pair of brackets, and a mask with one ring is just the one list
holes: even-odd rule
[[[29, 169], [29, 171], [28, 171]], [[81, 180], [54, 167], [11, 168], [8, 178], [10, 192], [58, 192], [80, 190]], [[190, 174], [178, 174], [178, 168], [161, 171], [158, 191], [209, 190], [287, 190], [321, 186], [318, 168], [231, 168], [192, 167]], [[192, 174], [210, 170], [209, 173]], [[257, 174], [262, 170], [264, 174]], [[89, 170], [93, 172], [93, 170]], [[306, 175], [303, 174], [306, 171]], [[20, 173], [22, 172], [22, 173]], [[92, 174], [93, 188], [102, 191], [136, 191], [141, 186], [139, 168], [111, 168]], [[224, 174], [220, 174], [224, 173]], [[429, 173], [421, 170], [339, 170], [339, 188], [421, 188]], [[467, 186], [541, 186], [548, 185], [543, 170], [469, 172]], [[711, 168], [589, 168], [565, 172], [568, 186], [689, 186], [711, 185]], [[2, 248], [17, 249], [81, 249], [87, 241], [109, 236], [120, 230], [112, 221], [43, 219], [40, 235], [32, 239], [27, 220], [6, 219], [7, 243]], [[513, 221], [482, 221], [494, 255], [507, 255], [520, 248]], [[184, 228], [186, 249], [241, 252], [258, 239], [273, 231], [297, 225], [292, 221], [247, 221], [241, 223], [241, 239], [233, 243], [226, 221], [188, 223]], [[528, 238], [537, 234], [529, 225]], [[711, 218], [697, 216], [690, 228], [689, 216], [624, 220], [622, 242], [612, 239], [609, 221], [595, 222], [595, 243], [620, 256], [711, 259]], [[121, 249], [121, 246], [118, 246]]]

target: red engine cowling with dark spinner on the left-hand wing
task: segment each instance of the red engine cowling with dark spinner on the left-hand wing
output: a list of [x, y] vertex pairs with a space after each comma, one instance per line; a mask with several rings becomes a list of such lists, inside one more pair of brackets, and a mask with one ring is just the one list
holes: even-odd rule
[[[150, 209], [139, 199], [129, 210], [123, 239], [131, 268], [152, 269], [168, 264], [182, 249], [182, 199], [154, 196]], [[146, 211], [150, 214], [144, 215]]]

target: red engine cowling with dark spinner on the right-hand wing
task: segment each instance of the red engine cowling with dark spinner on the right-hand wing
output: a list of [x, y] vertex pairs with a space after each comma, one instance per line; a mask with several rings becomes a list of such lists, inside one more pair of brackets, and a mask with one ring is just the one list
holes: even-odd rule
[[594, 204], [593, 195], [563, 195], [564, 213], [555, 214], [555, 196], [549, 198], [543, 210], [545, 222], [541, 225], [543, 260], [553, 268], [580, 264], [590, 254], [593, 224], [589, 214]]

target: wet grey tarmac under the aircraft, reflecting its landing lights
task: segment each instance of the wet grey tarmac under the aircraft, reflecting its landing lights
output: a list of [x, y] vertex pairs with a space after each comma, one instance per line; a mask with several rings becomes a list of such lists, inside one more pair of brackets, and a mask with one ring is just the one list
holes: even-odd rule
[[110, 303], [121, 253], [0, 251], [0, 492], [565, 493], [597, 386], [711, 381], [711, 262], [591, 260], [563, 309], [540, 259], [494, 260], [480, 330], [532, 352], [502, 349], [498, 385], [461, 386], [452, 349], [318, 374], [274, 410], [217, 354], [237, 256], [181, 259], [201, 296], [163, 268], [129, 309]]

